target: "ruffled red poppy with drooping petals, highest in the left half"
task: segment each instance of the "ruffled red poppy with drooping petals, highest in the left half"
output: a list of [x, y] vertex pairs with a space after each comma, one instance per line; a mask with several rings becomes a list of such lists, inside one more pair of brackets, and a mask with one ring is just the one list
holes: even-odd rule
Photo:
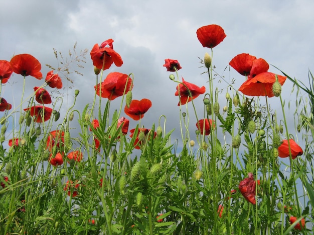
[[113, 40], [108, 39], [99, 46], [95, 44], [90, 51], [90, 56], [93, 60], [94, 66], [99, 69], [108, 69], [114, 62], [116, 66], [121, 66], [123, 61], [121, 56], [113, 49]]

